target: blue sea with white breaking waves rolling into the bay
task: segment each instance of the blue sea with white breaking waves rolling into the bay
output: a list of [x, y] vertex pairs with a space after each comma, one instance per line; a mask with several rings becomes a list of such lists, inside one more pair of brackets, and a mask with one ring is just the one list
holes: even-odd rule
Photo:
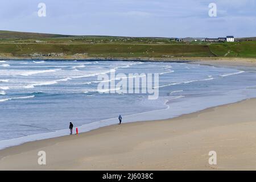
[[[102, 82], [120, 81], [99, 80], [113, 72], [158, 75], [152, 87], [158, 98], [99, 92]], [[122, 123], [152, 121], [254, 97], [256, 73], [250, 69], [136, 60], [3, 60], [0, 149], [69, 135], [69, 122], [81, 133], [115, 125], [119, 115]]]

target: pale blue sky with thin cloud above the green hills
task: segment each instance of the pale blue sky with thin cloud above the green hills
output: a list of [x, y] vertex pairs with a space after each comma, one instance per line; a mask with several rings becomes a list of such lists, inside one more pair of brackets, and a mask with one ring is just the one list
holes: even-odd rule
[[[38, 16], [39, 3], [46, 16]], [[217, 16], [209, 16], [215, 3]], [[65, 35], [256, 36], [256, 0], [1, 0], [0, 30]]]

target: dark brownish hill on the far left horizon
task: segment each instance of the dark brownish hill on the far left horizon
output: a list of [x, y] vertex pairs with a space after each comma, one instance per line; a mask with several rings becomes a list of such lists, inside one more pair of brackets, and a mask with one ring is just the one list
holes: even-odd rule
[[71, 35], [40, 34], [30, 32], [15, 32], [0, 30], [0, 39], [40, 39], [40, 38], [64, 38]]

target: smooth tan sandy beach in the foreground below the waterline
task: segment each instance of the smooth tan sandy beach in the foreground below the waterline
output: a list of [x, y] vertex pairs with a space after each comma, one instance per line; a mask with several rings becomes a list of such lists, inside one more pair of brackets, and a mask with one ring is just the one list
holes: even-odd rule
[[[1, 170], [255, 170], [256, 100], [125, 123], [0, 151]], [[38, 165], [46, 151], [46, 166]], [[217, 152], [217, 165], [208, 163]]]

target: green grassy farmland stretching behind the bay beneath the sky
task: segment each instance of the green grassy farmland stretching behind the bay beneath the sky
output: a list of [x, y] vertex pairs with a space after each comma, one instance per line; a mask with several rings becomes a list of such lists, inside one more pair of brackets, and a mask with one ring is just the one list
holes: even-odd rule
[[14, 57], [256, 57], [256, 41], [176, 42], [171, 38], [72, 36], [0, 31], [0, 55]]

